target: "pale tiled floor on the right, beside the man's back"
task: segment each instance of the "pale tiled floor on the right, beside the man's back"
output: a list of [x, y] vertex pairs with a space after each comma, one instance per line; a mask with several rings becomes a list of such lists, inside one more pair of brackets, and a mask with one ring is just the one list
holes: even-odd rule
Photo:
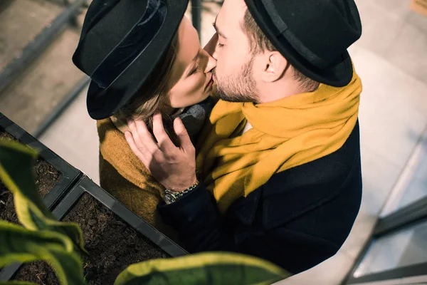
[[[427, 17], [410, 11], [409, 1], [356, 2], [364, 31], [350, 53], [364, 85], [359, 114], [364, 178], [362, 209], [336, 256], [280, 284], [310, 284], [314, 280], [316, 284], [339, 284], [369, 236], [381, 207], [427, 125]], [[424, 157], [418, 161], [425, 163]], [[422, 167], [425, 166], [418, 168], [424, 169]], [[406, 192], [405, 199], [427, 195], [427, 172], [420, 170], [419, 175], [418, 183], [411, 180], [417, 189]], [[413, 232], [401, 234], [401, 241], [405, 239], [413, 244], [412, 235]], [[404, 242], [399, 246], [404, 254], [407, 248]], [[382, 249], [390, 252], [394, 244]], [[407, 252], [406, 259], [411, 259], [412, 254]], [[396, 257], [395, 260], [401, 259]], [[393, 259], [385, 256], [372, 262], [386, 267], [393, 264], [391, 261]]]

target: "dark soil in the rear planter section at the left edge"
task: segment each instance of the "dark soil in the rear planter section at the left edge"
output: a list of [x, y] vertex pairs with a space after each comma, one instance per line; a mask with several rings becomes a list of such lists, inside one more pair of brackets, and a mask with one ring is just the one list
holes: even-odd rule
[[[0, 129], [0, 139], [16, 140], [9, 133], [5, 133]], [[38, 159], [33, 167], [34, 176], [36, 178], [36, 185], [38, 191], [42, 197], [50, 192], [53, 187], [58, 183], [61, 177], [61, 173], [55, 169], [48, 162]], [[3, 183], [0, 181], [0, 219], [4, 219], [14, 224], [19, 224], [18, 218], [16, 217], [14, 197], [11, 192], [6, 189]]]

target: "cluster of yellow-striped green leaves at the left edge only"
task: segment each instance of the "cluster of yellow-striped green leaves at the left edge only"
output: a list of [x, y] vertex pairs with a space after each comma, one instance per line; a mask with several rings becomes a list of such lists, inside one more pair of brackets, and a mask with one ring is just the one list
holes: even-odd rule
[[0, 179], [14, 195], [16, 214], [25, 227], [0, 221], [0, 267], [44, 260], [55, 269], [60, 284], [85, 284], [75, 253], [77, 248], [86, 252], [83, 234], [77, 224], [58, 222], [43, 204], [32, 172], [36, 157], [37, 152], [25, 145], [0, 140]]

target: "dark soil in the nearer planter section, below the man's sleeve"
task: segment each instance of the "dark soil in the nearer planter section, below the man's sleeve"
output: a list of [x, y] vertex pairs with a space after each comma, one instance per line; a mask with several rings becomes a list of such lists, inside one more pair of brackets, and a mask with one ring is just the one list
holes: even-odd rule
[[[85, 249], [89, 252], [82, 258], [83, 270], [90, 285], [113, 284], [120, 272], [130, 264], [169, 257], [87, 193], [63, 221], [77, 222], [83, 231]], [[15, 279], [58, 284], [53, 270], [43, 262], [26, 264]]]

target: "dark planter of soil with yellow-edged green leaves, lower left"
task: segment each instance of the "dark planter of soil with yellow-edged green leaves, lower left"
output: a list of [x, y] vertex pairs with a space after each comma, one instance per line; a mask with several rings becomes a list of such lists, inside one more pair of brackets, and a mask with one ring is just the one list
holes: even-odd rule
[[[267, 261], [239, 254], [185, 256], [183, 249], [81, 173], [75, 183], [57, 191], [60, 195], [56, 199], [47, 200], [52, 204], [46, 203], [49, 194], [43, 201], [43, 192], [33, 183], [37, 151], [10, 140], [21, 138], [11, 126], [23, 134], [10, 120], [0, 117], [0, 138], [2, 133], [3, 138], [9, 137], [0, 139], [0, 178], [4, 182], [1, 185], [14, 195], [23, 227], [12, 224], [17, 222], [15, 216], [2, 216], [9, 222], [0, 221], [0, 267], [6, 266], [1, 271], [0, 283], [11, 279], [42, 284], [226, 284], [227, 280], [231, 284], [268, 284], [288, 276]], [[50, 150], [35, 141], [32, 138], [31, 144], [41, 149], [42, 160], [52, 157]], [[41, 175], [36, 177], [40, 184]], [[7, 199], [0, 212], [10, 212], [10, 202]], [[179, 255], [184, 257], [164, 259]], [[10, 266], [14, 261], [31, 262]]]

